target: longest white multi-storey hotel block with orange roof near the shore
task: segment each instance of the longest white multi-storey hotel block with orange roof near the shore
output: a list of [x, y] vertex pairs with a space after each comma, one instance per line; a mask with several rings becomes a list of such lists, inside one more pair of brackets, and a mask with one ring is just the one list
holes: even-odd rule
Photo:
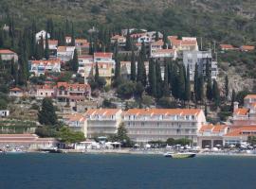
[[196, 146], [197, 131], [206, 117], [197, 109], [130, 109], [122, 113], [122, 122], [137, 143], [187, 138]]

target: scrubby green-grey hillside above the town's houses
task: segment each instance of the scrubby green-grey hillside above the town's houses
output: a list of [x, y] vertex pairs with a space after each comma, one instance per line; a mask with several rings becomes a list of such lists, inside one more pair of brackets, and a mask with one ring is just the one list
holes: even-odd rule
[[69, 19], [80, 26], [78, 32], [99, 24], [137, 26], [234, 44], [255, 43], [255, 9], [252, 0], [2, 0], [0, 5], [2, 16], [14, 15], [18, 26], [32, 19], [42, 27], [47, 18]]

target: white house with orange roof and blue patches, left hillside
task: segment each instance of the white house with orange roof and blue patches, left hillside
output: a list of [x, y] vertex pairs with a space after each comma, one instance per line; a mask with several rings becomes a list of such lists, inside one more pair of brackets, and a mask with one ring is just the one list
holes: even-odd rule
[[61, 60], [30, 60], [28, 61], [28, 69], [36, 77], [45, 75], [46, 73], [60, 73]]

